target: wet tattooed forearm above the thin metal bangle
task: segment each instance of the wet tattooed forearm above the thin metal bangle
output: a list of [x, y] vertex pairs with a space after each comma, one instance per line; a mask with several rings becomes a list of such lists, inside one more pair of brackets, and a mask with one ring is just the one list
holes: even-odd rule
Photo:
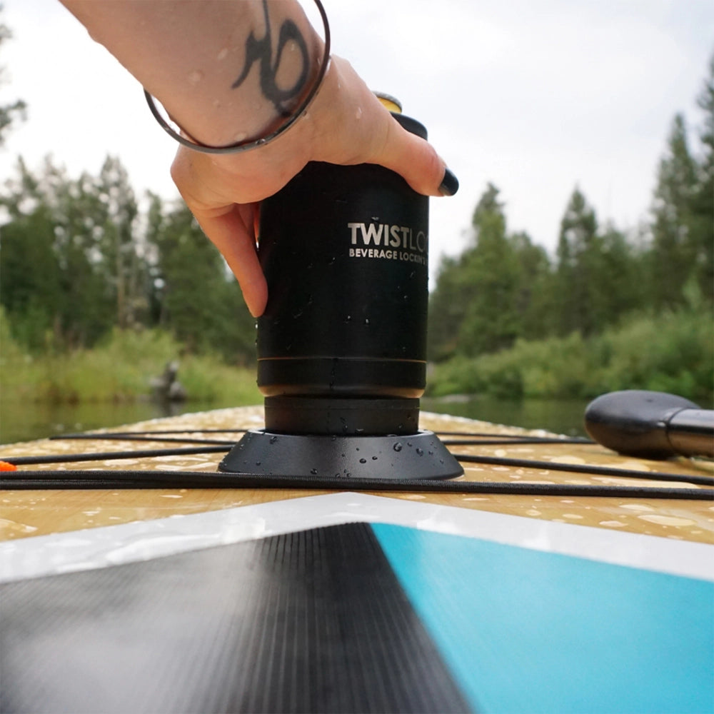
[[321, 40], [293, 0], [61, 1], [203, 144], [268, 133], [318, 73]]

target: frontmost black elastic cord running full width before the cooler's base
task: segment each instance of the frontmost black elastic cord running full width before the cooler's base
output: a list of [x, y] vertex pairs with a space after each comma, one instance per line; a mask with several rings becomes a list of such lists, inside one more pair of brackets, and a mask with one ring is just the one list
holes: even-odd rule
[[380, 478], [266, 476], [203, 471], [21, 471], [0, 476], [0, 489], [120, 488], [296, 488], [313, 491], [393, 491], [422, 493], [501, 493], [518, 496], [591, 496], [596, 498], [670, 498], [714, 501], [713, 488], [579, 486], [560, 483], [493, 481], [390, 481]]

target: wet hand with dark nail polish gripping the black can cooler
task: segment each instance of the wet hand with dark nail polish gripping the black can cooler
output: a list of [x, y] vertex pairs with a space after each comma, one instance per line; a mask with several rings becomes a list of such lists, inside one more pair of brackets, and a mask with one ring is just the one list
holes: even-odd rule
[[458, 181], [427, 141], [403, 129], [350, 64], [333, 57], [323, 86], [302, 116], [265, 146], [203, 154], [181, 146], [171, 176], [206, 236], [260, 316], [268, 288], [256, 253], [258, 207], [308, 161], [380, 164], [428, 196], [456, 193]]

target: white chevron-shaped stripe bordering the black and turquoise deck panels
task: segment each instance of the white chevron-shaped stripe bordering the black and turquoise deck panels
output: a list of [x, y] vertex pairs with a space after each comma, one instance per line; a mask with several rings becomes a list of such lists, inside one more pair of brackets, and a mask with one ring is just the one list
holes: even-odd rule
[[393, 523], [467, 535], [533, 550], [714, 580], [714, 545], [414, 503], [366, 493], [331, 493], [5, 541], [0, 543], [0, 582], [131, 563], [353, 521]]

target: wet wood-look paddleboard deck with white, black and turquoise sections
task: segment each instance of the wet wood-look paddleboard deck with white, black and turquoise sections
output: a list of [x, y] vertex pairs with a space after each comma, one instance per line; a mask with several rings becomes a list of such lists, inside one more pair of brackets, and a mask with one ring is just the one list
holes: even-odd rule
[[[122, 431], [216, 438], [209, 430], [260, 426], [259, 408], [241, 408]], [[431, 414], [421, 426], [546, 436]], [[463, 481], [631, 485], [543, 462], [663, 471], [593, 444], [448, 438], [461, 454], [541, 464], [464, 463]], [[121, 443], [147, 446], [169, 445]], [[117, 448], [100, 433], [0, 458]], [[221, 456], [137, 457], [131, 468], [209, 474]], [[695, 481], [711, 473], [664, 466]], [[711, 501], [289, 488], [0, 501], [1, 711], [714, 708]]]

